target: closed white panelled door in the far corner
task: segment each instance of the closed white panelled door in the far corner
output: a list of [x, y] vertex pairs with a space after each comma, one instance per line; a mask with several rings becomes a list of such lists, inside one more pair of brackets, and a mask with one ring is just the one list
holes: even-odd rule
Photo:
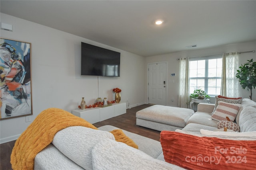
[[166, 63], [148, 64], [148, 103], [166, 105]]

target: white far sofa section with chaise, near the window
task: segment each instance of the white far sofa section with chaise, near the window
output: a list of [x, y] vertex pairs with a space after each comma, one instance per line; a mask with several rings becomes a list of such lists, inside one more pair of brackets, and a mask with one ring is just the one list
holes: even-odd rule
[[[241, 132], [256, 131], [256, 102], [242, 99], [241, 107], [234, 122], [240, 125]], [[169, 130], [200, 134], [200, 129], [213, 131], [218, 121], [210, 119], [215, 104], [198, 104], [196, 113], [192, 109], [154, 105], [137, 111], [136, 125], [157, 131]]]

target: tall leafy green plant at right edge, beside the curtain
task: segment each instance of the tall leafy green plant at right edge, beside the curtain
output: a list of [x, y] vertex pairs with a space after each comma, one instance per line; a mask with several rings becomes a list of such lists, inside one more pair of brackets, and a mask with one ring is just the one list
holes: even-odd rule
[[240, 70], [237, 70], [236, 78], [243, 89], [247, 88], [248, 91], [250, 89], [250, 100], [252, 100], [252, 87], [256, 86], [256, 62], [253, 62], [252, 59], [247, 61], [239, 67]]

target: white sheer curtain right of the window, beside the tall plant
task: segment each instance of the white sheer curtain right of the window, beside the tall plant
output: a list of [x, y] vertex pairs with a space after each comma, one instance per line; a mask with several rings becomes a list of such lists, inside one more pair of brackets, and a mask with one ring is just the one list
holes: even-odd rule
[[222, 82], [220, 95], [230, 98], [240, 97], [239, 82], [236, 79], [237, 69], [238, 53], [224, 53], [222, 57]]

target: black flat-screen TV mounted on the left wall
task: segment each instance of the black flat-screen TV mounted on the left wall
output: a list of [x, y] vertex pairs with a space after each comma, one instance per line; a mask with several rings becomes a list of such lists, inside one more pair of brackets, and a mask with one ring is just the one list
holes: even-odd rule
[[120, 77], [120, 53], [81, 42], [81, 75]]

